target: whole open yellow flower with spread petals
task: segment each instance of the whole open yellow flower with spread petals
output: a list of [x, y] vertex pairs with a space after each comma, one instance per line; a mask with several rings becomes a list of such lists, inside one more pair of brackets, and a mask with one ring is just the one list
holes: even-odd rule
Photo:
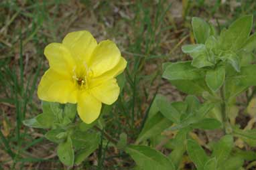
[[88, 31], [68, 33], [62, 43], [44, 49], [50, 68], [38, 86], [41, 100], [77, 103], [80, 118], [90, 123], [99, 117], [102, 102], [119, 96], [115, 77], [127, 62], [113, 41], [97, 41]]

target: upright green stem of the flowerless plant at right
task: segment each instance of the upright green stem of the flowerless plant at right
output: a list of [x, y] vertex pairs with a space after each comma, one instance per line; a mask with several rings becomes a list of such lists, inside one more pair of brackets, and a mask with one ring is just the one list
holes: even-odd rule
[[225, 84], [220, 88], [220, 97], [222, 98], [221, 102], [221, 114], [222, 114], [222, 123], [223, 123], [223, 130], [225, 134], [231, 134], [232, 133], [232, 128], [231, 124], [229, 122], [229, 110], [228, 110], [228, 102], [225, 97]]

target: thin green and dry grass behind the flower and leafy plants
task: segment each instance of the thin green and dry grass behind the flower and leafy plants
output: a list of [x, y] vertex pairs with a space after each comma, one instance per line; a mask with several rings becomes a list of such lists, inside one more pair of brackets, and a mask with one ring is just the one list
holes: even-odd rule
[[[174, 1], [175, 2], [175, 1]], [[180, 4], [182, 5], [182, 4]], [[69, 31], [88, 29], [97, 39], [113, 39], [123, 51], [129, 67], [125, 86], [114, 106], [104, 108], [107, 133], [119, 139], [122, 132], [133, 143], [142, 129], [153, 97], [163, 86], [160, 75], [164, 61], [186, 60], [180, 53], [190, 41], [191, 17], [199, 16], [229, 25], [239, 15], [256, 15], [255, 1], [238, 7], [216, 1], [193, 1], [181, 8], [181, 17], [172, 14], [175, 5], [156, 1], [1, 1], [0, 2], [0, 169], [63, 169], [54, 157], [55, 145], [22, 124], [41, 111], [36, 95], [38, 81], [48, 68], [44, 47], [61, 39]], [[255, 27], [254, 27], [255, 30]], [[169, 86], [168, 88], [172, 88]], [[182, 96], [182, 94], [179, 94]], [[133, 161], [125, 153], [113, 154], [104, 145], [98, 150], [96, 169], [129, 169]], [[44, 159], [45, 157], [49, 159]], [[119, 163], [115, 161], [119, 160]], [[107, 161], [107, 163], [106, 163]], [[90, 167], [85, 161], [80, 167]]]

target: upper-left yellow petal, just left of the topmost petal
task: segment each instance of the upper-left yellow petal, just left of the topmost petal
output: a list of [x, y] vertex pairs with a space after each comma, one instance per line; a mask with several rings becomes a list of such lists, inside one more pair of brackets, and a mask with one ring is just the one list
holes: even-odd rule
[[50, 68], [60, 74], [72, 74], [75, 62], [68, 48], [60, 43], [52, 43], [46, 46], [44, 55], [49, 61]]

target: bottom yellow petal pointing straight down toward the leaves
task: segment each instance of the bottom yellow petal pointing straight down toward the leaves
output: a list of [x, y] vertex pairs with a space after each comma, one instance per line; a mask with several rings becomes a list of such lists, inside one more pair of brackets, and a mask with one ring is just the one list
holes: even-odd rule
[[78, 97], [77, 112], [87, 124], [96, 120], [101, 113], [101, 102], [85, 91]]

